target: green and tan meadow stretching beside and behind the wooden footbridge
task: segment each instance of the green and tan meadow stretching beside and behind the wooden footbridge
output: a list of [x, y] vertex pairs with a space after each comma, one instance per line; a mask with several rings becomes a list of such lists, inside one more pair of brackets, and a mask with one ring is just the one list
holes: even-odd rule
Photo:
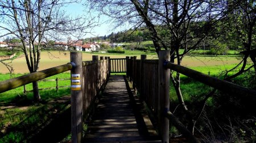
[[[82, 59], [91, 60], [92, 55], [99, 55], [110, 58], [125, 58], [128, 55], [137, 56], [139, 59], [140, 54], [146, 54], [142, 51], [134, 51], [134, 53], [132, 53], [132, 51], [129, 52], [130, 53], [118, 55], [105, 53], [83, 53]], [[47, 68], [59, 66], [61, 64], [69, 63], [69, 58], [69, 52], [63, 53], [59, 51], [43, 51], [39, 70], [44, 70]], [[156, 54], [147, 55], [147, 59], [156, 58]], [[211, 76], [220, 76], [222, 71], [233, 68], [239, 61], [240, 59], [230, 56], [187, 56], [183, 59], [182, 65], [206, 74], [210, 72]], [[14, 59], [9, 62], [11, 62], [10, 64], [14, 68], [14, 74], [10, 75], [7, 68], [3, 66], [3, 64], [0, 64], [0, 81], [28, 73], [24, 57]], [[47, 79], [65, 79], [68, 77], [70, 77], [69, 71], [48, 77]], [[70, 84], [70, 81], [59, 81], [58, 84], [59, 86], [67, 86]], [[39, 81], [39, 88], [50, 88], [55, 86], [56, 81]], [[26, 90], [32, 90], [32, 84], [26, 85]], [[199, 98], [201, 94], [207, 93], [210, 88], [198, 83], [197, 81], [193, 81], [184, 75], [181, 75], [181, 90], [184, 94], [184, 101], [189, 102], [193, 99]], [[56, 89], [40, 90], [40, 96], [43, 102], [33, 103], [32, 92], [25, 95], [23, 93], [23, 86], [7, 91], [5, 93], [0, 93], [0, 142], [26, 142], [27, 139], [33, 141], [34, 137], [40, 138], [34, 135], [33, 132], [42, 131], [45, 125], [51, 125], [52, 119], [57, 119], [57, 117], [62, 114], [69, 114], [69, 94], [69, 88], [60, 88], [59, 92], [56, 92]], [[176, 93], [172, 87], [172, 84], [170, 95], [171, 101], [174, 103], [177, 102]], [[208, 102], [209, 105], [212, 103], [210, 100]], [[65, 120], [61, 120], [61, 122], [65, 122]], [[26, 132], [23, 131], [24, 128], [27, 128]], [[54, 129], [51, 130], [54, 132]], [[65, 131], [65, 129], [63, 129], [63, 135], [65, 135], [61, 136], [61, 138], [63, 138], [63, 142], [70, 140], [70, 131]]]

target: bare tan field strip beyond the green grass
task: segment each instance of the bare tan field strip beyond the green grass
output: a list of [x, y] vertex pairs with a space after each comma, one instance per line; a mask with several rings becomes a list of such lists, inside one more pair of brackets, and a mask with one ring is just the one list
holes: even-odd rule
[[[92, 60], [92, 55], [83, 53], [83, 60]], [[40, 60], [40, 70], [45, 70], [47, 68], [60, 66], [61, 64], [69, 63], [70, 60], [69, 52], [63, 53], [59, 51], [43, 51]], [[100, 56], [106, 56], [110, 58], [125, 58], [126, 55], [104, 55], [100, 54]], [[133, 56], [133, 55], [129, 55]], [[137, 55], [137, 59], [140, 58], [140, 55]], [[147, 55], [147, 59], [156, 59], [156, 55]], [[14, 73], [28, 73], [28, 68], [26, 64], [26, 60], [24, 57], [14, 59], [13, 61], [7, 60], [6, 63], [10, 63], [14, 68]], [[235, 57], [185, 57], [183, 59], [183, 66], [187, 67], [199, 67], [199, 66], [216, 66], [216, 65], [225, 65], [225, 64], [235, 64], [238, 63], [238, 59]], [[3, 65], [0, 64], [0, 73], [9, 73], [9, 70]]]

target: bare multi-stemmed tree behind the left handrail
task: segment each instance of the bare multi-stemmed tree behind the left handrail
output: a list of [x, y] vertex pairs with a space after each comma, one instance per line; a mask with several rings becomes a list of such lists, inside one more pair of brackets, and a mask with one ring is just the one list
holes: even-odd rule
[[[0, 37], [12, 36], [22, 42], [21, 49], [30, 73], [39, 70], [42, 41], [57, 37], [80, 36], [93, 27], [92, 20], [71, 18], [61, 9], [73, 1], [0, 0]], [[38, 83], [32, 83], [35, 101], [40, 100]]]

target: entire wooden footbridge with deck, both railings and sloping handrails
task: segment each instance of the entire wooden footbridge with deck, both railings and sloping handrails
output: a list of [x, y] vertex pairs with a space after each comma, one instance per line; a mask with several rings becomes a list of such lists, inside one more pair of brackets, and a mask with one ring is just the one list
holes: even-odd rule
[[[169, 142], [172, 123], [188, 142], [200, 142], [170, 112], [170, 69], [255, 102], [256, 93], [242, 86], [169, 62], [170, 51], [158, 60], [146, 55], [110, 59], [71, 52], [71, 62], [0, 82], [0, 93], [61, 72], [71, 71], [72, 142]], [[125, 72], [126, 76], [112, 74]], [[112, 73], [110, 75], [110, 73]], [[84, 124], [88, 129], [83, 131]]]

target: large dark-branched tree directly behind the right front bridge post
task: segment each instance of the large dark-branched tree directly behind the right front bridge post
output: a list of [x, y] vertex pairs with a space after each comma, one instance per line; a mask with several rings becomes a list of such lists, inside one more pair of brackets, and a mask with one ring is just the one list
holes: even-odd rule
[[[192, 0], [112, 0], [90, 1], [94, 8], [113, 18], [117, 25], [129, 23], [137, 29], [146, 26], [156, 53], [163, 47], [171, 50], [171, 62], [181, 64], [189, 51], [195, 50], [205, 37], [215, 32], [228, 14], [226, 1]], [[184, 49], [182, 52], [180, 49]], [[180, 75], [171, 75], [180, 105], [187, 112], [193, 132], [197, 116], [192, 116], [180, 90]], [[199, 114], [197, 114], [199, 115]]]

